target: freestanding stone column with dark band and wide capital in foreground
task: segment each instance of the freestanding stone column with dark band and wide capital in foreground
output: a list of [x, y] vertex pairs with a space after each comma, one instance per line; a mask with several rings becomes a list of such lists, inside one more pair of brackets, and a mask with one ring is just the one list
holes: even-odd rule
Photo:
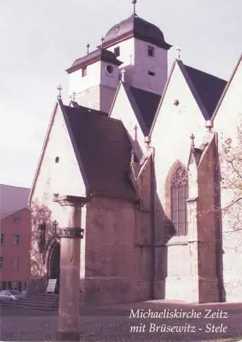
[[82, 207], [87, 198], [54, 198], [66, 214], [66, 226], [58, 229], [60, 237], [60, 302], [57, 341], [80, 341], [80, 239], [83, 229]]

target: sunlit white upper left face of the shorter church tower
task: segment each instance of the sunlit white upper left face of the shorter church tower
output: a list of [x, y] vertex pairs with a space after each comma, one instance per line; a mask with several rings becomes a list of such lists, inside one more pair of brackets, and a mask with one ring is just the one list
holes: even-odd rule
[[86, 76], [82, 77], [82, 69], [69, 74], [69, 96], [73, 92], [79, 94], [88, 88], [101, 83], [101, 61], [90, 64], [86, 68]]

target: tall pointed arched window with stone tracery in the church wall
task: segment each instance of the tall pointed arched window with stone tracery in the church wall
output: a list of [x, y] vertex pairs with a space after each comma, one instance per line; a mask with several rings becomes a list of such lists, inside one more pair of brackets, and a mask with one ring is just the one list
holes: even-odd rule
[[176, 235], [187, 235], [186, 198], [188, 196], [188, 174], [180, 165], [176, 168], [171, 181], [171, 220], [176, 229]]

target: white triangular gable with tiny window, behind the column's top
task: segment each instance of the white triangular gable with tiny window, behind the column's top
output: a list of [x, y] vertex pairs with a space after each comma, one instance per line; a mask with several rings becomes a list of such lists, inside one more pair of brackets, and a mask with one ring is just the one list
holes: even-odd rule
[[29, 201], [45, 196], [51, 200], [53, 194], [86, 196], [60, 103], [53, 111]]

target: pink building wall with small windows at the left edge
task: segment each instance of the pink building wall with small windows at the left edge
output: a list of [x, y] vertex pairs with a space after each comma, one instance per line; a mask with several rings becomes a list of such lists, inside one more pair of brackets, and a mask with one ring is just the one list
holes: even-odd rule
[[[16, 287], [21, 291], [25, 288], [30, 275], [30, 210], [23, 208], [14, 213], [1, 215], [0, 233], [1, 289]], [[19, 246], [16, 246], [16, 235], [19, 236]]]

